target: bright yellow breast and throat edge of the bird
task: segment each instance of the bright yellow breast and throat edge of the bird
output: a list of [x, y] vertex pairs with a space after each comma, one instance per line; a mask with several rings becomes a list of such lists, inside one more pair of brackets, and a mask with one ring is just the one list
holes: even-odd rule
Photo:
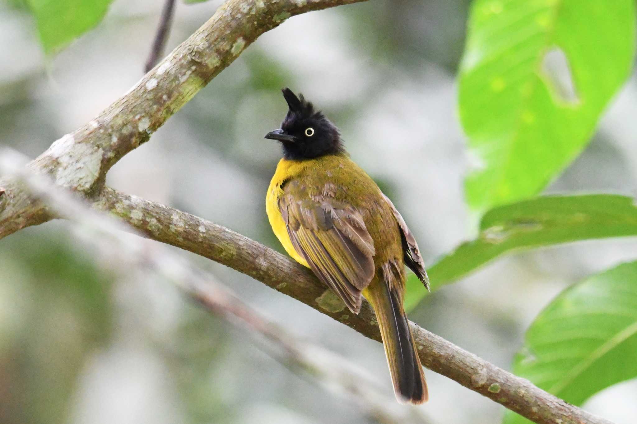
[[287, 254], [294, 258], [296, 262], [299, 262], [299, 264], [309, 268], [310, 265], [308, 265], [308, 262], [299, 255], [296, 249], [294, 249], [294, 246], [292, 246], [292, 241], [285, 227], [285, 221], [283, 221], [283, 216], [281, 216], [281, 211], [278, 207], [278, 199], [283, 194], [282, 184], [303, 172], [307, 166], [308, 164], [306, 162], [285, 159], [279, 161], [272, 181], [270, 181], [268, 194], [266, 194], [266, 213], [268, 213], [268, 220], [272, 226], [272, 230], [275, 232], [281, 244], [283, 244], [283, 248], [285, 248]]

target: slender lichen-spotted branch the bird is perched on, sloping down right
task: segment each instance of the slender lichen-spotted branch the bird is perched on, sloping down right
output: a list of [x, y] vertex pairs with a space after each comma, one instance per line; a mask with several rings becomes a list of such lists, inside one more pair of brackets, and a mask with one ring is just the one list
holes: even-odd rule
[[[189, 213], [108, 187], [104, 187], [94, 201], [94, 207], [119, 216], [151, 239], [243, 272], [364, 336], [380, 341], [375, 314], [368, 303], [364, 302], [360, 314], [350, 313], [309, 269], [248, 237]], [[423, 365], [529, 420], [542, 424], [610, 424], [610, 421], [572, 406], [414, 323], [410, 325]]]

